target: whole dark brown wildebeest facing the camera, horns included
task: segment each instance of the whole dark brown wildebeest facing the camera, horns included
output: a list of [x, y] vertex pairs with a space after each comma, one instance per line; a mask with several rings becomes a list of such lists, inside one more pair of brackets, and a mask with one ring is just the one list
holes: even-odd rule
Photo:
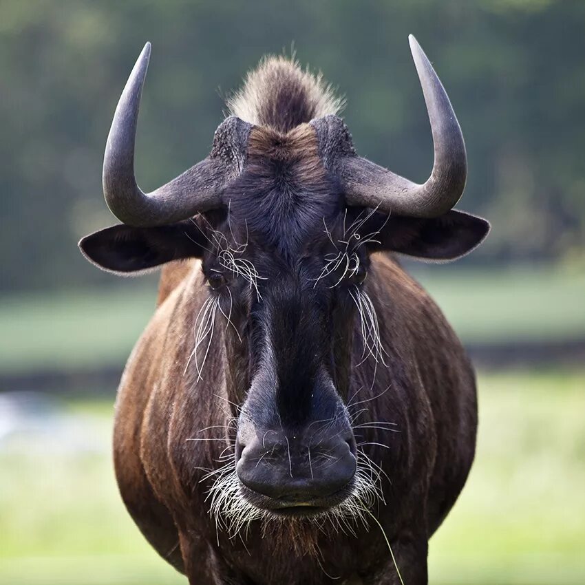
[[424, 184], [358, 156], [340, 100], [286, 58], [248, 74], [209, 156], [152, 193], [134, 178], [149, 44], [118, 103], [103, 187], [123, 224], [80, 246], [114, 273], [164, 265], [114, 462], [134, 521], [192, 585], [427, 583], [474, 458], [476, 387], [394, 254], [455, 259], [489, 224], [452, 209], [465, 145], [409, 41], [434, 139]]

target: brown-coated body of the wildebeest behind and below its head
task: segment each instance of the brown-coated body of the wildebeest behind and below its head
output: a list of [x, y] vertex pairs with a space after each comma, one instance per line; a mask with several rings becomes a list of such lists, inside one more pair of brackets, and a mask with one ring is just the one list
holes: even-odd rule
[[[381, 316], [388, 365], [379, 368], [373, 387], [371, 360], [355, 368], [350, 395], [361, 403], [358, 409], [368, 405], [356, 425], [365, 425], [361, 434], [371, 444], [363, 449], [384, 470], [385, 504], [379, 503], [376, 516], [404, 582], [425, 583], [427, 540], [454, 504], [474, 458], [474, 372], [436, 304], [394, 260], [372, 257], [368, 292]], [[375, 525], [357, 524], [356, 535], [291, 529], [290, 539], [264, 536], [262, 526], [253, 525], [240, 540], [213, 522], [206, 500], [211, 481], [203, 478], [219, 467], [229, 437], [188, 439], [223, 438], [222, 427], [236, 416], [228, 396], [238, 372], [226, 368], [224, 329], [218, 328], [202, 380], [193, 385], [184, 376], [195, 317], [207, 294], [200, 262], [164, 268], [158, 309], [120, 383], [114, 460], [136, 524], [173, 566], [198, 575], [193, 583], [398, 583]], [[356, 353], [358, 363], [361, 349]], [[380, 420], [396, 423], [398, 432], [365, 424]], [[274, 529], [287, 536], [285, 526]], [[306, 553], [297, 538], [315, 540], [318, 554]]]

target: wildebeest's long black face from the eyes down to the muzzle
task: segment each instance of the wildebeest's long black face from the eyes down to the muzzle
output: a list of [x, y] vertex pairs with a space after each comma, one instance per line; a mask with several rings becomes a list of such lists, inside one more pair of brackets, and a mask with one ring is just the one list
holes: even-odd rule
[[208, 244], [203, 271], [235, 370], [238, 487], [248, 503], [279, 515], [321, 513], [356, 489], [345, 404], [373, 214], [323, 209], [332, 217], [316, 218], [286, 251], [267, 231], [252, 232], [239, 209], [198, 222]]

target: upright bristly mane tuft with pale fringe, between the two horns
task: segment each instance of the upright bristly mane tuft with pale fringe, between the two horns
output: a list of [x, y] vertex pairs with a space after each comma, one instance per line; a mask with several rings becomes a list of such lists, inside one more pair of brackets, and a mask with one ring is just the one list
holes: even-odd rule
[[281, 134], [321, 118], [338, 114], [343, 98], [334, 93], [321, 74], [302, 70], [298, 61], [266, 56], [246, 76], [244, 86], [228, 98], [230, 114]]

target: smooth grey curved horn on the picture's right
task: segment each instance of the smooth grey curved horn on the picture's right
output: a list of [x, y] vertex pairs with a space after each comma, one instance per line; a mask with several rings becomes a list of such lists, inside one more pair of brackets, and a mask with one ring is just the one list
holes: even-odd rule
[[465, 189], [465, 142], [447, 92], [421, 45], [412, 34], [408, 40], [433, 134], [435, 156], [430, 177], [424, 184], [416, 184], [358, 156], [344, 158], [337, 170], [350, 205], [412, 217], [437, 217], [447, 213]]

